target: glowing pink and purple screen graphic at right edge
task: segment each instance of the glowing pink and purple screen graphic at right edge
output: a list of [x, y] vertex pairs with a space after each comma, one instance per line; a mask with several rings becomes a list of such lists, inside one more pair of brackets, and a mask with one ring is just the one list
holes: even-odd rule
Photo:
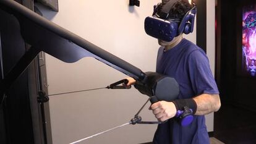
[[256, 4], [243, 7], [242, 51], [243, 69], [256, 77]]

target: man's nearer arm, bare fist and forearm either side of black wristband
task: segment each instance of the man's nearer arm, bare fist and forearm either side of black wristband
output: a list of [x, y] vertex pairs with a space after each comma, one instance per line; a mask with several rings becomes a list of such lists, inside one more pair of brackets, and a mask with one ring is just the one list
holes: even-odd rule
[[[221, 106], [219, 95], [202, 94], [193, 98], [197, 103], [195, 115], [204, 115], [218, 111]], [[166, 121], [176, 115], [177, 109], [173, 102], [158, 101], [150, 106], [158, 121]]]

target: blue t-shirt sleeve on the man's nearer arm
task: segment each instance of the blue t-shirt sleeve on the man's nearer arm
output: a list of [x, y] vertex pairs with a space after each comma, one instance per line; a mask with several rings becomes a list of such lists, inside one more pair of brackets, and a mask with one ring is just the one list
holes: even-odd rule
[[213, 74], [211, 73], [209, 60], [206, 54], [199, 49], [189, 54], [187, 66], [192, 88], [196, 95], [203, 93], [219, 94]]

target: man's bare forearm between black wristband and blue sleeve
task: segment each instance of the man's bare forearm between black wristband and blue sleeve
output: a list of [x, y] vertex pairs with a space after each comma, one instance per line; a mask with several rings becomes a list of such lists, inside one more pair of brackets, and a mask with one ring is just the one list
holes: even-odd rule
[[197, 103], [197, 111], [195, 112], [195, 115], [204, 115], [218, 111], [221, 106], [219, 95], [202, 94], [193, 99]]

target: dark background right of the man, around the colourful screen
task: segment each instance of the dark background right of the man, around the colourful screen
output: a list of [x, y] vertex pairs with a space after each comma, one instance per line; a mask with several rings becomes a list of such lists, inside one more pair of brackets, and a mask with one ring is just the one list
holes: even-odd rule
[[216, 7], [216, 80], [221, 109], [214, 136], [224, 143], [256, 143], [256, 78], [241, 74], [242, 7], [256, 1], [218, 0]]

